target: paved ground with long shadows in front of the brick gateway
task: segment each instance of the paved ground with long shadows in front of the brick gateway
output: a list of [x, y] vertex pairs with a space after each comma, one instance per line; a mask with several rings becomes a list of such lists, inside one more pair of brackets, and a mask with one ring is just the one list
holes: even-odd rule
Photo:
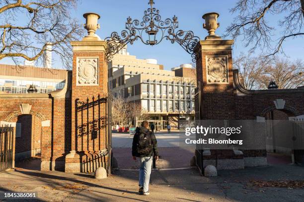
[[138, 171], [115, 171], [107, 179], [90, 174], [57, 171], [6, 171], [0, 173], [0, 194], [37, 192], [40, 201], [65, 202], [303, 202], [304, 189], [253, 186], [251, 180], [304, 181], [304, 167], [277, 165], [222, 170], [206, 178], [197, 169], [153, 170], [150, 196], [138, 191]]

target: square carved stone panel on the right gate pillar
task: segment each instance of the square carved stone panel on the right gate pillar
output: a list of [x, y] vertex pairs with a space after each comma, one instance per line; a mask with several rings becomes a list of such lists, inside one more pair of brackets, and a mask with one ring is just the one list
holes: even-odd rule
[[207, 83], [228, 84], [228, 55], [206, 56]]

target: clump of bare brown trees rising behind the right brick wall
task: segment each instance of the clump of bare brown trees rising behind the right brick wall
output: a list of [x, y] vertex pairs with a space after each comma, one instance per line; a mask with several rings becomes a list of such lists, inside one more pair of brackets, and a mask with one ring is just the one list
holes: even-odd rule
[[236, 57], [233, 66], [239, 70], [241, 82], [248, 90], [267, 89], [271, 80], [279, 89], [292, 89], [304, 85], [304, 63], [279, 57], [244, 55]]

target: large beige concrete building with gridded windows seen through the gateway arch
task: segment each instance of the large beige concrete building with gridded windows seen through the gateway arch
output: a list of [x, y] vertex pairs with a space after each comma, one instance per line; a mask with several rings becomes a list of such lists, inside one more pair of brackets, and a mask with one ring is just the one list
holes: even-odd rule
[[114, 98], [140, 102], [157, 129], [194, 119], [196, 70], [191, 64], [167, 71], [157, 60], [137, 59], [125, 48], [108, 64], [108, 81]]

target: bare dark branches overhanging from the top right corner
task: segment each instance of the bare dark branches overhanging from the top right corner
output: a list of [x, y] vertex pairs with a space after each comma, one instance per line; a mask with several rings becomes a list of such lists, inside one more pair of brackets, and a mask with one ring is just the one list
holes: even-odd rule
[[[304, 0], [237, 0], [230, 12], [237, 16], [226, 29], [226, 36], [242, 36], [246, 47], [266, 49], [267, 56], [283, 52], [286, 39], [304, 36]], [[278, 19], [278, 27], [273, 26], [276, 23], [271, 17]], [[273, 39], [278, 31], [279, 39]]]

